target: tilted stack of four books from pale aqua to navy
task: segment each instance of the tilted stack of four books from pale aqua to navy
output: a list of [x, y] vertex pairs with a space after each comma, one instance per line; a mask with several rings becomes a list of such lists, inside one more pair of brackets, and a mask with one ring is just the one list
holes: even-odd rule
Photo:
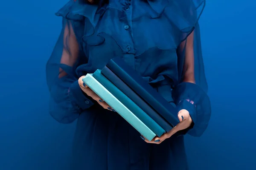
[[178, 124], [177, 110], [122, 58], [111, 59], [83, 82], [151, 141]]

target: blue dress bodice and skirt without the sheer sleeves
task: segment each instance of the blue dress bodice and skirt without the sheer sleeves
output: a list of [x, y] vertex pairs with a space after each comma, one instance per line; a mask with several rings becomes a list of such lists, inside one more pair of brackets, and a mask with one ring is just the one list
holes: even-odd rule
[[[169, 102], [180, 81], [177, 48], [182, 40], [169, 0], [110, 0], [102, 8], [76, 2], [58, 14], [73, 20], [86, 57], [76, 72], [93, 73], [109, 59], [122, 57]], [[169, 91], [161, 93], [168, 85]], [[166, 89], [166, 88], [165, 88]], [[81, 113], [73, 146], [73, 169], [186, 170], [183, 136], [147, 144], [117, 113], [94, 105]]]

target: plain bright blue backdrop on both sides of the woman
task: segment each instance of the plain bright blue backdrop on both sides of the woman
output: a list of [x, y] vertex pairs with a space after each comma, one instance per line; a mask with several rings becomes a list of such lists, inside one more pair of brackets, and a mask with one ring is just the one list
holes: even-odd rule
[[[67, 170], [76, 122], [48, 113], [45, 64], [65, 0], [1, 0], [0, 170]], [[256, 2], [208, 0], [201, 17], [212, 118], [186, 136], [191, 170], [255, 170]]]

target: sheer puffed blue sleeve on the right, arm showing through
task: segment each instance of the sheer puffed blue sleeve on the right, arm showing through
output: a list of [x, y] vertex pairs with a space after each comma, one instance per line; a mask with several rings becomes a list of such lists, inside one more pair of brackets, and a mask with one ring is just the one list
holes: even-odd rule
[[208, 126], [211, 106], [207, 96], [207, 81], [201, 52], [199, 25], [186, 36], [177, 50], [180, 84], [173, 91], [179, 110], [186, 109], [192, 117], [192, 126], [185, 130], [192, 136], [201, 136]]

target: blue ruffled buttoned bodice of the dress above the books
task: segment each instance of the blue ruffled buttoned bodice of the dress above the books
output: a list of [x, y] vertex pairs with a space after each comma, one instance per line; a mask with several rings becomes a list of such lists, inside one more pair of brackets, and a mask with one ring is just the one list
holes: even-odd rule
[[109, 59], [122, 57], [151, 85], [177, 84], [183, 59], [176, 52], [182, 32], [165, 12], [170, 8], [168, 2], [110, 0], [102, 8], [80, 4], [78, 13], [86, 19], [73, 24], [87, 63], [77, 68], [77, 74], [93, 73]]

